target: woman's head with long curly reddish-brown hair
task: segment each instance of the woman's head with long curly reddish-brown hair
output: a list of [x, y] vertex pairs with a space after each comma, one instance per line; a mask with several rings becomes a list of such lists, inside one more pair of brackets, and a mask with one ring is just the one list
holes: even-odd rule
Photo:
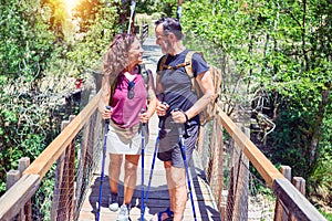
[[127, 66], [142, 63], [143, 52], [135, 34], [116, 34], [104, 56], [104, 73], [117, 75]]

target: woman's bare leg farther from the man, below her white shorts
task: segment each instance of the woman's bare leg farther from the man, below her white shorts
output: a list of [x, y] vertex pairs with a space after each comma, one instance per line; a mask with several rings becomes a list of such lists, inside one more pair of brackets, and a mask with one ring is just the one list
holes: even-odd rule
[[117, 193], [122, 159], [122, 155], [110, 154], [108, 180], [111, 186], [111, 193]]

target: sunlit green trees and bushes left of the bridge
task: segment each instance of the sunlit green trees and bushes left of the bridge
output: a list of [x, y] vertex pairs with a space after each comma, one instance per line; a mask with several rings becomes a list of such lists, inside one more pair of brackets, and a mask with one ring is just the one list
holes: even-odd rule
[[[86, 2], [93, 10], [84, 10], [89, 22], [82, 21], [77, 29], [63, 10], [63, 1], [1, 1], [0, 196], [6, 190], [6, 172], [17, 168], [21, 157], [33, 161], [59, 134], [61, 120], [79, 110], [61, 103], [63, 94], [56, 94], [61, 85], [42, 88], [43, 77], [56, 81], [95, 70], [112, 36], [120, 32], [115, 3]], [[81, 15], [75, 18], [84, 19]], [[52, 171], [46, 175], [33, 199], [33, 213], [45, 220], [50, 219], [52, 176]]]

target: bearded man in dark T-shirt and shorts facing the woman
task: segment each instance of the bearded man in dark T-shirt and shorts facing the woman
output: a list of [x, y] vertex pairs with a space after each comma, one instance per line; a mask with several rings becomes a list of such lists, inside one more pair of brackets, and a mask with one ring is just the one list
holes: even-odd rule
[[[191, 60], [193, 72], [204, 96], [198, 99], [195, 92], [191, 91], [191, 80], [183, 65], [189, 50], [183, 45], [184, 34], [179, 21], [173, 18], [163, 18], [156, 21], [155, 25], [156, 43], [166, 54], [158, 62], [156, 87], [159, 103], [156, 113], [165, 119], [158, 158], [164, 161], [166, 169], [170, 201], [169, 208], [157, 215], [158, 220], [173, 217], [175, 221], [180, 221], [186, 208], [187, 188], [177, 127], [185, 125], [184, 144], [186, 157], [189, 160], [199, 129], [198, 114], [214, 99], [215, 90], [207, 63], [200, 54], [195, 53]], [[165, 63], [162, 66], [163, 62]], [[153, 220], [156, 220], [156, 217]]]

